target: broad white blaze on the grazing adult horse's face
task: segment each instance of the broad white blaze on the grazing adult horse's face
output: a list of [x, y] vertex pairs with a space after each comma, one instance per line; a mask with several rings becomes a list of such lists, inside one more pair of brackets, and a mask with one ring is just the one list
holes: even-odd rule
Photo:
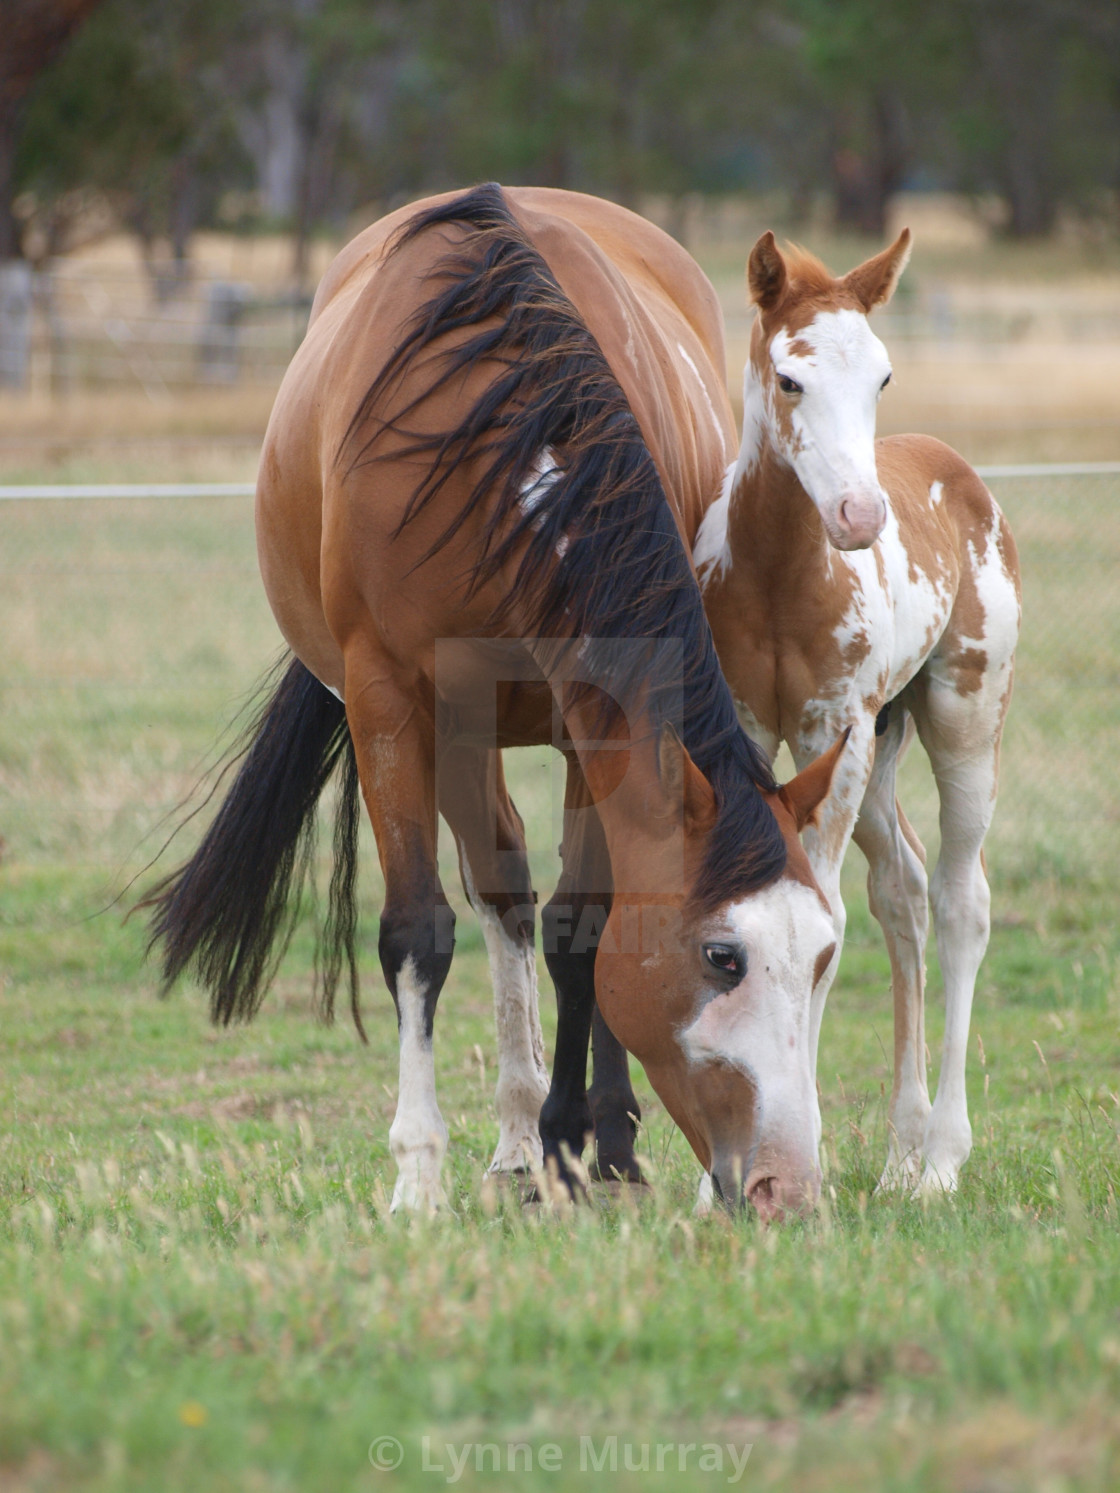
[[756, 1088], [756, 1166], [811, 1169], [820, 1132], [809, 1066], [814, 966], [832, 944], [832, 921], [817, 891], [783, 878], [727, 908], [706, 930], [747, 951], [747, 975], [708, 999], [681, 1030], [690, 1063], [726, 1063]]

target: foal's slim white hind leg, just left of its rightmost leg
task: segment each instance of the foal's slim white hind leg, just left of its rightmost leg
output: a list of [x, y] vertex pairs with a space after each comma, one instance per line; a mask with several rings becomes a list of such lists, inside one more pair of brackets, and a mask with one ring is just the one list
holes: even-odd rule
[[868, 903], [887, 944], [895, 1003], [890, 1145], [880, 1187], [917, 1184], [930, 1108], [924, 1021], [926, 854], [895, 796], [897, 764], [912, 735], [911, 717], [895, 705], [886, 733], [877, 739], [875, 764], [853, 835], [868, 857]]

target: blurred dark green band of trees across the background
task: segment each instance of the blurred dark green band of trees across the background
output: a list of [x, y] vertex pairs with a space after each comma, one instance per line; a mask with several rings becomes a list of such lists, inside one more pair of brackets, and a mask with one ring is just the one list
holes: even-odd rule
[[1116, 227], [1108, 0], [102, 0], [49, 58], [13, 124], [33, 257], [96, 191], [179, 258], [291, 228], [300, 278], [318, 225], [478, 178], [826, 193], [866, 233], [942, 187], [1020, 237]]

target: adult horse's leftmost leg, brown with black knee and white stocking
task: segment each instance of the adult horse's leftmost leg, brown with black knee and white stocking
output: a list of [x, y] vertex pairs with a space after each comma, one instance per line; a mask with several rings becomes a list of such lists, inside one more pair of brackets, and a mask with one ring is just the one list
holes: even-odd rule
[[346, 720], [385, 878], [378, 953], [400, 1035], [397, 1112], [388, 1132], [397, 1163], [394, 1212], [433, 1211], [445, 1200], [448, 1133], [436, 1103], [432, 1032], [455, 926], [436, 867], [432, 717], [409, 682], [394, 682], [384, 663], [346, 658]]

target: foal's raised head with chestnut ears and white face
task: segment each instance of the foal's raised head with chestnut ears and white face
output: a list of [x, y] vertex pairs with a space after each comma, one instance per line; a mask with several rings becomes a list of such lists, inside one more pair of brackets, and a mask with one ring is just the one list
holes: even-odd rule
[[838, 549], [866, 549], [887, 521], [875, 470], [875, 406], [890, 382], [887, 349], [868, 325], [909, 258], [909, 228], [841, 279], [772, 233], [751, 249], [759, 308], [744, 382], [744, 446], [766, 437], [793, 467]]

